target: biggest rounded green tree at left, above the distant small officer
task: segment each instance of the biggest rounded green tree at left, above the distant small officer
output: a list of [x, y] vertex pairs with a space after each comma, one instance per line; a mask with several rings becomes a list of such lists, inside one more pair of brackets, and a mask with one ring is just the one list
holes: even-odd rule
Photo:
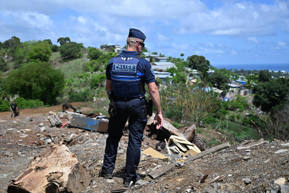
[[19, 94], [26, 100], [39, 99], [49, 105], [56, 103], [64, 84], [64, 74], [47, 62], [29, 62], [10, 71], [4, 81], [9, 94]]

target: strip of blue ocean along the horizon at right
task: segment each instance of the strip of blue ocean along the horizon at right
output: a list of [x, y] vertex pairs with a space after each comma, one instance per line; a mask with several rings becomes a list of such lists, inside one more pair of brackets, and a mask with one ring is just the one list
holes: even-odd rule
[[272, 70], [289, 72], [289, 64], [211, 64], [215, 68], [241, 70]]

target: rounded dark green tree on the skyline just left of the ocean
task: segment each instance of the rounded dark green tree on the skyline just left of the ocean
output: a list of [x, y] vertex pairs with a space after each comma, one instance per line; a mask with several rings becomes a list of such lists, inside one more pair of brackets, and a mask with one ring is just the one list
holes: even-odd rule
[[197, 71], [208, 71], [210, 68], [210, 61], [202, 55], [192, 55], [188, 57], [188, 66]]

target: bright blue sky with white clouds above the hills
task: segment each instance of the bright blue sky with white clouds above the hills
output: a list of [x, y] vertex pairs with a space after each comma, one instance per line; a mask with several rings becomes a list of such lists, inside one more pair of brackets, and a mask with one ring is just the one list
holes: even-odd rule
[[0, 0], [0, 41], [59, 37], [126, 44], [130, 28], [150, 52], [214, 64], [289, 64], [289, 0]]

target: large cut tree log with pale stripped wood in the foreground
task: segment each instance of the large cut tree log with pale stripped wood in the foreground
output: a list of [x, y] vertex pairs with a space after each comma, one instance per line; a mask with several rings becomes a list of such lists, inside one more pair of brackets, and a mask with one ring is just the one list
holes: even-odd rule
[[51, 144], [8, 186], [8, 193], [79, 193], [91, 181], [76, 154], [65, 145]]

